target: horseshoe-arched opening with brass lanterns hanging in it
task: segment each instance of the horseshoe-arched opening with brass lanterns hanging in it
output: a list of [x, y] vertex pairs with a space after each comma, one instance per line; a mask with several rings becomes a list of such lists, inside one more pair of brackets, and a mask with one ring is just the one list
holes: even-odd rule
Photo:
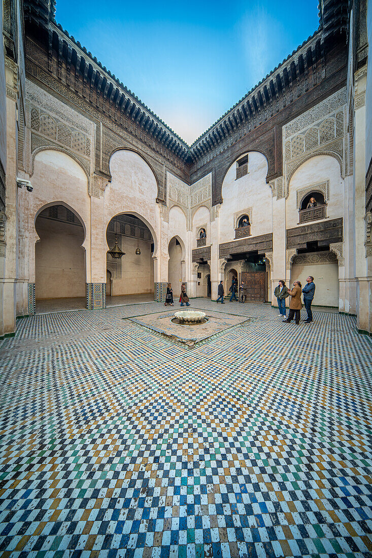
[[115, 246], [115, 239], [125, 255], [113, 258], [107, 252], [106, 266], [111, 273], [111, 296], [153, 294], [154, 238], [149, 227], [136, 215], [115, 215], [106, 229], [109, 249]]

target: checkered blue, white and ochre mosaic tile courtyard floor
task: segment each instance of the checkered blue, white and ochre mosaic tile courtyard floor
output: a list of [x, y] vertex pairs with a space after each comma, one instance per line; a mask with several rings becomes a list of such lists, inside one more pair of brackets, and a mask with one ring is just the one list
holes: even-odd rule
[[1, 556], [372, 557], [370, 340], [224, 309], [255, 320], [193, 349], [122, 319], [158, 303], [18, 321]]

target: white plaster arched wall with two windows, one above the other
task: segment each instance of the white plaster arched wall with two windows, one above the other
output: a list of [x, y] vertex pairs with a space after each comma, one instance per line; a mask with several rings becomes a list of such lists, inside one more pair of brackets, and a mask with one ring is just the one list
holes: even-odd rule
[[266, 184], [268, 162], [257, 151], [248, 154], [248, 174], [236, 180], [236, 162], [227, 171], [222, 184], [223, 204], [220, 209], [220, 242], [229, 242], [235, 238], [234, 215], [247, 208], [252, 208], [251, 235], [273, 232], [271, 207], [273, 195]]

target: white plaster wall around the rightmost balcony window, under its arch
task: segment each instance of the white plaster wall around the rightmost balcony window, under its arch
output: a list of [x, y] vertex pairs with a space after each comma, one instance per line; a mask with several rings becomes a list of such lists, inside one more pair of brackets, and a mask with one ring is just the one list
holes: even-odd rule
[[285, 206], [287, 228], [297, 227], [298, 224], [297, 190], [302, 190], [326, 180], [330, 181], [327, 218], [336, 219], [344, 217], [344, 180], [341, 177], [340, 165], [334, 157], [317, 155], [305, 161], [294, 172], [289, 182], [289, 196]]

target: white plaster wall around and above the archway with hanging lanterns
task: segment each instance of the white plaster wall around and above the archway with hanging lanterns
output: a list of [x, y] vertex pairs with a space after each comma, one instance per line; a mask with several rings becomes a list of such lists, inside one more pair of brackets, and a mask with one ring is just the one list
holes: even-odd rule
[[[154, 240], [154, 256], [165, 268], [168, 275], [168, 242], [160, 239], [160, 209], [156, 203], [158, 186], [155, 176], [137, 153], [120, 150], [113, 153], [110, 160], [112, 181], [104, 191], [104, 266], [106, 266], [106, 228], [109, 221], [119, 213], [130, 213], [139, 217], [149, 227]], [[98, 241], [97, 241], [98, 242]], [[124, 250], [125, 252], [125, 250]], [[106, 276], [106, 267], [104, 268]], [[155, 281], [157, 271], [155, 270]], [[114, 291], [115, 292], [115, 291]], [[136, 291], [138, 292], [138, 291]]]

